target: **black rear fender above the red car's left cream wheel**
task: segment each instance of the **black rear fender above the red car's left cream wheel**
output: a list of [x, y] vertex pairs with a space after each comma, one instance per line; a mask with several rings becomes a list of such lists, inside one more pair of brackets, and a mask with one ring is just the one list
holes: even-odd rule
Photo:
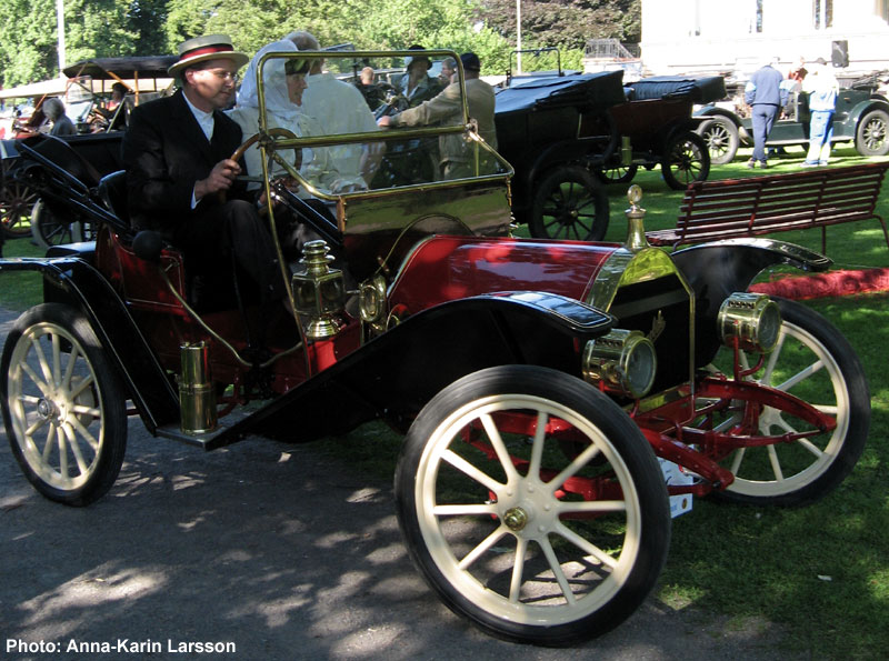
[[41, 273], [46, 302], [63, 303], [86, 316], [149, 431], [178, 422], [176, 389], [118, 292], [90, 263], [76, 256], [4, 259], [0, 273], [4, 271]]

